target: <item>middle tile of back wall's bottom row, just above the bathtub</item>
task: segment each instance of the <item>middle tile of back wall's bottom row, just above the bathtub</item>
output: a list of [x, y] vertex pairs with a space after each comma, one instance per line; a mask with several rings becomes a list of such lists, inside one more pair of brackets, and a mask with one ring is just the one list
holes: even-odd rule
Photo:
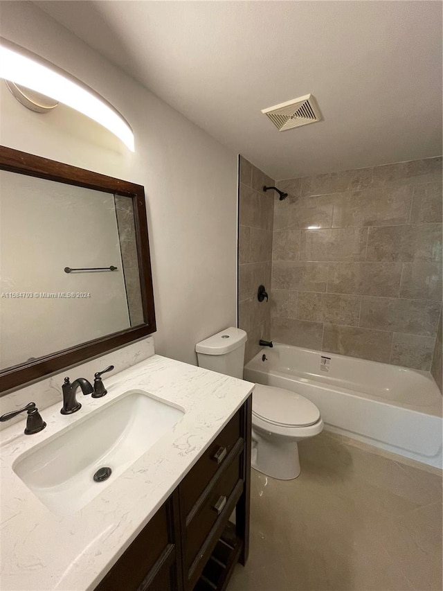
[[389, 363], [392, 333], [325, 324], [323, 351]]

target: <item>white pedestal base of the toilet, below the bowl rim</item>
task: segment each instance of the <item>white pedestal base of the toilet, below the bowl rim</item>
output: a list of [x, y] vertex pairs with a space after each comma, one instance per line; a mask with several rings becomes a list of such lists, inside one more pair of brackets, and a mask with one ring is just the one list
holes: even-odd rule
[[271, 478], [293, 480], [300, 475], [297, 442], [279, 439], [274, 443], [253, 430], [251, 466]]

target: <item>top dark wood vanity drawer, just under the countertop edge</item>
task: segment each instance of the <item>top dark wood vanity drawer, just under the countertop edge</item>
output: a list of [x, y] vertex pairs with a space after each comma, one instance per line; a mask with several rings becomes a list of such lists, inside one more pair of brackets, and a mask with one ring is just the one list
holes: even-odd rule
[[181, 507], [185, 517], [212, 479], [226, 462], [226, 458], [241, 436], [241, 412], [237, 412], [213, 443], [201, 456], [194, 468], [180, 484]]

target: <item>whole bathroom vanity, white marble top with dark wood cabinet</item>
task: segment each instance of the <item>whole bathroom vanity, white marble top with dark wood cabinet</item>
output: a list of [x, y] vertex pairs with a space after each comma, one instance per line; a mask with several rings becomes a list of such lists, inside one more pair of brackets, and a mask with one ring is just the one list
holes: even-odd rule
[[[1, 432], [2, 590], [226, 588], [248, 555], [253, 384], [153, 355], [107, 378], [106, 387], [103, 398], [82, 396], [82, 408], [69, 416], [60, 414], [60, 396], [42, 410], [42, 432], [24, 435], [25, 418]], [[66, 503], [54, 501], [59, 470], [42, 490], [42, 470], [57, 459], [44, 464], [39, 455], [51, 454], [51, 446], [68, 454], [69, 441], [88, 424], [99, 430], [97, 439], [87, 437], [94, 450], [107, 438], [113, 407], [145, 395], [181, 409], [149, 449], [123, 471], [115, 460], [107, 482], [92, 479], [105, 456], [86, 466], [93, 495], [86, 504], [73, 492], [84, 470], [62, 483]], [[137, 407], [138, 418], [143, 412]], [[128, 417], [128, 424], [135, 420]], [[82, 445], [75, 450], [81, 464]], [[33, 458], [38, 478], [19, 468]]]

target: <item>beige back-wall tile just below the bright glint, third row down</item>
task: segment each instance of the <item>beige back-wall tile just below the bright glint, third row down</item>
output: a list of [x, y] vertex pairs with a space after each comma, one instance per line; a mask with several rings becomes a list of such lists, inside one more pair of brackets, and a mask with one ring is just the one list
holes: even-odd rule
[[300, 261], [364, 261], [368, 228], [302, 230]]

